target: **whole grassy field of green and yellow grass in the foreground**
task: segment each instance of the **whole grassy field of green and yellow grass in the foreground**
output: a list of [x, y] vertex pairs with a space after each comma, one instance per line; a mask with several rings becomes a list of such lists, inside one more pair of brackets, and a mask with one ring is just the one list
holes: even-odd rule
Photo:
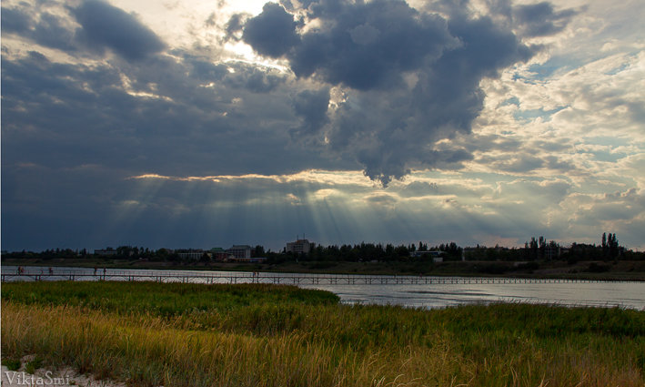
[[645, 311], [349, 306], [275, 285], [2, 287], [3, 362], [137, 386], [642, 386]]

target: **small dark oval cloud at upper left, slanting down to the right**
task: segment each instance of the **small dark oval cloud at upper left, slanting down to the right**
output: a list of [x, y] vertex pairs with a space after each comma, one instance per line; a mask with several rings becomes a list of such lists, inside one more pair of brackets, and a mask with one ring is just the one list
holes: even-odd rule
[[142, 59], [165, 48], [164, 42], [135, 15], [99, 0], [73, 10], [81, 25], [78, 36], [92, 47], [109, 48], [128, 60]]

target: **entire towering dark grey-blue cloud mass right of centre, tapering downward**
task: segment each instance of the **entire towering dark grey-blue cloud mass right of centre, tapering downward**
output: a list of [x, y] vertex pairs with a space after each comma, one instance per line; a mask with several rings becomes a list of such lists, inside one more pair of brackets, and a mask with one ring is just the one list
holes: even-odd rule
[[[403, 1], [305, 6], [305, 28], [298, 29], [283, 7], [265, 5], [245, 25], [244, 41], [259, 54], [284, 56], [298, 77], [349, 87], [348, 98], [328, 112], [328, 148], [356, 158], [369, 178], [383, 184], [411, 168], [459, 168], [472, 159], [467, 149], [436, 144], [469, 133], [483, 108], [483, 78], [499, 76], [538, 49], [489, 16], [466, 15], [464, 5], [440, 4], [446, 18]], [[267, 35], [269, 28], [283, 33]], [[327, 123], [321, 117], [316, 122]]]

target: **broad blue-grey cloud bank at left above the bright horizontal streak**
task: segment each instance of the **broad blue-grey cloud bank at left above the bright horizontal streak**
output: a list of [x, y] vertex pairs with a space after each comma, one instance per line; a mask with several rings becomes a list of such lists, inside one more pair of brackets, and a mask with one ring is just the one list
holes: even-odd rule
[[298, 117], [293, 91], [281, 87], [284, 74], [180, 51], [174, 56], [183, 60], [84, 66], [35, 51], [3, 55], [3, 168], [10, 168], [6, 159], [53, 168], [92, 163], [131, 175], [358, 168], [288, 148], [288, 129]]

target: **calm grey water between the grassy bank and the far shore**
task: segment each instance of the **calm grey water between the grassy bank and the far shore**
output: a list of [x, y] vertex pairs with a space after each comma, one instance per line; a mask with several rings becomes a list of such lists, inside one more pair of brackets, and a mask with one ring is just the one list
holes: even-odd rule
[[[3, 266], [3, 274], [15, 274], [17, 267]], [[25, 275], [18, 277], [7, 277], [6, 280], [34, 280], [26, 274], [48, 273], [46, 267], [25, 267]], [[83, 277], [85, 280], [100, 280], [103, 269], [96, 270], [85, 268], [52, 268], [54, 277], [43, 277], [43, 280], [68, 280], [70, 273], [91, 274]], [[107, 269], [106, 274], [123, 274], [122, 280], [126, 280], [127, 274], [161, 275], [164, 273], [182, 273], [196, 276], [191, 282], [206, 282], [200, 278], [207, 275], [221, 275], [237, 278], [237, 283], [251, 282], [257, 278], [252, 272], [240, 271], [205, 271], [205, 270], [123, 270]], [[57, 274], [60, 274], [58, 276]], [[260, 282], [272, 282], [273, 277], [287, 279], [298, 277], [312, 277], [316, 274], [297, 273], [261, 273], [267, 276]], [[339, 282], [348, 277], [362, 278], [358, 275], [320, 275], [337, 277]], [[381, 278], [391, 276], [368, 276]], [[406, 278], [399, 276], [399, 278]], [[76, 278], [78, 280], [78, 278]], [[217, 280], [227, 282], [227, 280]], [[290, 282], [287, 282], [290, 283]], [[607, 282], [576, 282], [562, 281], [557, 283], [476, 283], [476, 284], [300, 284], [306, 289], [321, 289], [332, 291], [340, 297], [344, 303], [365, 303], [365, 304], [392, 304], [414, 308], [444, 308], [448, 306], [472, 303], [490, 302], [532, 302], [540, 304], [559, 304], [566, 306], [601, 306], [637, 309], [645, 311], [645, 282], [633, 281], [607, 281]]]

